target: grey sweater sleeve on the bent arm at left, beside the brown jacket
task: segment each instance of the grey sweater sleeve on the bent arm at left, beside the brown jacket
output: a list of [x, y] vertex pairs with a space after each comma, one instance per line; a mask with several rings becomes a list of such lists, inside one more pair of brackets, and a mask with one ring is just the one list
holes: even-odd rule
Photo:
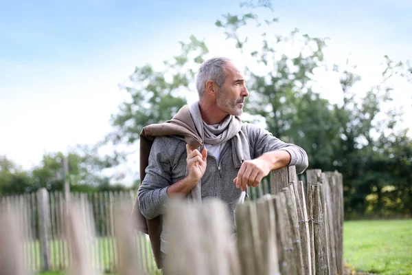
[[166, 145], [164, 137], [155, 138], [150, 148], [146, 176], [137, 191], [140, 211], [146, 219], [163, 214], [163, 208], [169, 199], [167, 190], [172, 182], [172, 166]]

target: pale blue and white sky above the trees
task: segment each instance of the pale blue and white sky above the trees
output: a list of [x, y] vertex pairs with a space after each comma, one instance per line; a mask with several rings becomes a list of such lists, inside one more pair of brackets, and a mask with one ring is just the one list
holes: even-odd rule
[[[23, 168], [38, 165], [45, 152], [102, 140], [126, 97], [119, 83], [137, 65], [160, 67], [192, 34], [205, 39], [210, 56], [246, 60], [214, 25], [222, 14], [244, 12], [239, 1], [1, 2], [0, 155]], [[412, 60], [412, 1], [273, 2], [274, 32], [298, 28], [329, 37], [328, 64], [342, 65], [351, 55], [365, 90], [379, 78], [385, 54]], [[336, 75], [320, 75], [319, 83], [325, 98], [341, 101]], [[398, 80], [395, 88], [411, 118], [411, 85]], [[138, 170], [135, 162], [126, 169]]]

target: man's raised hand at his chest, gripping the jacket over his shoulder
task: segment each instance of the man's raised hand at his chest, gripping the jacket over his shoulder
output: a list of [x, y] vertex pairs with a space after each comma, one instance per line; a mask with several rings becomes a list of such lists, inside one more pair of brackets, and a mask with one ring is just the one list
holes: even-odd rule
[[189, 144], [186, 144], [187, 152], [187, 177], [190, 181], [198, 182], [206, 170], [207, 149], [203, 148], [202, 153], [197, 149], [192, 150]]

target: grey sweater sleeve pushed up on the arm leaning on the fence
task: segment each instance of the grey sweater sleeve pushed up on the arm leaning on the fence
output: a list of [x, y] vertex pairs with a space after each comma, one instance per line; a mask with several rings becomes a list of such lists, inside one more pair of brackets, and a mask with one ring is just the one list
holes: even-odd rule
[[308, 154], [303, 148], [295, 144], [282, 142], [270, 132], [253, 124], [247, 124], [247, 130], [253, 158], [260, 157], [267, 152], [284, 150], [290, 154], [288, 166], [295, 165], [297, 174], [304, 173], [308, 168]]

